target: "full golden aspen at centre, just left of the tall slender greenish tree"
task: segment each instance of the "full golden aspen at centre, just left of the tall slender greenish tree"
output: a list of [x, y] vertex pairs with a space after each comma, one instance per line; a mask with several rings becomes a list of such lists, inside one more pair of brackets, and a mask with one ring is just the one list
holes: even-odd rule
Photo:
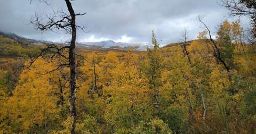
[[[129, 50], [123, 57], [123, 62], [118, 64], [116, 77], [108, 91], [107, 112], [105, 119], [109, 126], [113, 126], [119, 133], [127, 133], [135, 128], [138, 120], [146, 117], [145, 104], [148, 100], [147, 87], [143, 79], [139, 78], [136, 56]], [[145, 119], [145, 118], [144, 118]]]

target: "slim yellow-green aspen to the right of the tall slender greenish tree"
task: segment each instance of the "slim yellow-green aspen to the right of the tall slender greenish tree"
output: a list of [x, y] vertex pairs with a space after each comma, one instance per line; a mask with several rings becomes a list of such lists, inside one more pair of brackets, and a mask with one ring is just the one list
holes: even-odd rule
[[[178, 108], [187, 109], [186, 104], [189, 101], [191, 114], [194, 116], [190, 87], [190, 81], [193, 79], [193, 76], [190, 74], [190, 63], [182, 55], [181, 48], [178, 48], [177, 52], [172, 52], [169, 58], [170, 65], [168, 67], [170, 68], [170, 73], [168, 78], [172, 85], [173, 107], [178, 106]], [[191, 62], [193, 63], [193, 61]]]

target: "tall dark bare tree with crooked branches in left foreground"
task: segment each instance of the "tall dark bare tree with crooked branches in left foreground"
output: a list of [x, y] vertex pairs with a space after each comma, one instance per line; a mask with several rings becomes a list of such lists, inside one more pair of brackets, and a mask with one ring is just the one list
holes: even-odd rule
[[[33, 1], [37, 1], [40, 3], [44, 3], [47, 5], [52, 4], [52, 0], [29, 0], [30, 4]], [[69, 80], [69, 113], [71, 119], [73, 119], [72, 129], [70, 133], [75, 133], [76, 127], [76, 62], [75, 62], [75, 43], [76, 43], [76, 34], [77, 30], [84, 31], [84, 25], [79, 25], [76, 23], [76, 16], [84, 15], [86, 13], [75, 13], [73, 7], [71, 5], [71, 1], [75, 0], [65, 0], [68, 13], [64, 12], [61, 9], [54, 11], [49, 14], [43, 12], [39, 14], [35, 12], [35, 15], [32, 16], [30, 20], [30, 24], [34, 25], [35, 30], [44, 31], [53, 31], [55, 33], [63, 33], [70, 34], [71, 41], [65, 42], [63, 46], [56, 46], [54, 44], [47, 45], [46, 48], [36, 57], [31, 58], [30, 64], [34, 63], [34, 61], [39, 57], [47, 53], [50, 49], [55, 49], [56, 52], [51, 55], [51, 60], [56, 57], [66, 58], [66, 63], [59, 63], [58, 67], [54, 70], [58, 70], [61, 66], [68, 66], [70, 71], [70, 80]], [[68, 53], [62, 53], [63, 50], [68, 49]], [[52, 70], [52, 71], [54, 71]]]

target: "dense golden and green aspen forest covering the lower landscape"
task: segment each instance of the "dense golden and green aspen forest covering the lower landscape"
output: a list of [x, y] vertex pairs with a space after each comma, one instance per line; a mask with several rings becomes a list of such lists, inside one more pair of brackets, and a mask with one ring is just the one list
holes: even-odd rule
[[[153, 31], [145, 53], [78, 53], [76, 133], [255, 133], [253, 31], [224, 21], [214, 39], [159, 48]], [[67, 58], [50, 57], [1, 67], [1, 133], [70, 132]]]

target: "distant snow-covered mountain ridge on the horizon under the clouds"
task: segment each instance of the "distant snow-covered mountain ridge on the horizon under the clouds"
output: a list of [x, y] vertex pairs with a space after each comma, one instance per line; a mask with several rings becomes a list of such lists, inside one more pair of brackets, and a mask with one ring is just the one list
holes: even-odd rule
[[115, 43], [112, 40], [104, 40], [99, 42], [82, 42], [77, 43], [77, 47], [81, 48], [113, 48], [113, 49], [133, 49], [137, 51], [146, 51], [147, 47], [153, 48], [153, 45], [147, 43]]

